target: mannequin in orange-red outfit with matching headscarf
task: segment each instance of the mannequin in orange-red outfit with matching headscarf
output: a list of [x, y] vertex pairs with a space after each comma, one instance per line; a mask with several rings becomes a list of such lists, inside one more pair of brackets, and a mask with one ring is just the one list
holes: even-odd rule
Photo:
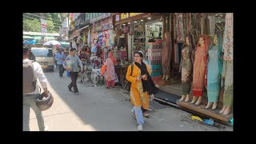
[[202, 91], [204, 82], [206, 85], [206, 62], [208, 51], [209, 38], [207, 35], [202, 35], [198, 40], [197, 48], [194, 52], [194, 70], [193, 70], [193, 100], [194, 103], [197, 99], [196, 105], [202, 102]]

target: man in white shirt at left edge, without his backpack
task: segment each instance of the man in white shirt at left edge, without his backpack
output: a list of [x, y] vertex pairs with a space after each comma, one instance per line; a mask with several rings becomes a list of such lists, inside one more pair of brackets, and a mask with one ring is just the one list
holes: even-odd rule
[[[29, 62], [30, 51], [28, 48], [23, 48], [23, 65], [26, 62]], [[38, 62], [33, 62], [34, 67], [34, 77], [39, 79], [41, 86], [46, 94], [48, 94], [47, 90], [47, 79], [45, 74], [42, 72], [42, 67]], [[24, 74], [23, 74], [24, 78]], [[23, 79], [24, 81], [24, 79]], [[38, 121], [38, 128], [40, 131], [48, 131], [48, 127], [44, 124], [44, 118], [42, 116], [42, 111], [38, 110], [36, 106], [36, 99], [39, 97], [38, 91], [38, 83], [36, 82], [35, 90], [31, 93], [24, 94], [24, 86], [23, 86], [23, 131], [30, 131], [30, 107], [34, 110], [34, 114], [36, 115]]]

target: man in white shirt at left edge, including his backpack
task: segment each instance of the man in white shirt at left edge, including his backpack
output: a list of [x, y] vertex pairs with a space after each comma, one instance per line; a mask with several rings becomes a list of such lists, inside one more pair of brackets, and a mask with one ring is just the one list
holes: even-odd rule
[[23, 48], [23, 131], [30, 131], [30, 108], [36, 115], [39, 131], [48, 131], [42, 111], [36, 105], [39, 97], [37, 78], [45, 94], [48, 94], [47, 79], [42, 67], [38, 62], [31, 61], [29, 55], [29, 49]]

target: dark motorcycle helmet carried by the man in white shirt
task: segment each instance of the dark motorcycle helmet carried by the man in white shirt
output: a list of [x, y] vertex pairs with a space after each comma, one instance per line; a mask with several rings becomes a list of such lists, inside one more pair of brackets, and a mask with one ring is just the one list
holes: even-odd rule
[[54, 97], [48, 91], [48, 94], [43, 92], [39, 95], [38, 99], [36, 100], [36, 105], [38, 106], [39, 110], [48, 110], [54, 103]]

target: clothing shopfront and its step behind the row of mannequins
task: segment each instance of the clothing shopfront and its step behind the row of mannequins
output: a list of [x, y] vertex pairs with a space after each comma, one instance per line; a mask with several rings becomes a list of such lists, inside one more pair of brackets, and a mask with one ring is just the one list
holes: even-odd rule
[[[189, 94], [189, 98], [187, 102], [183, 102], [185, 99], [182, 100], [182, 102], [178, 102], [178, 99], [174, 100], [174, 103], [177, 102], [178, 105], [186, 107], [187, 109], [190, 110], [194, 110], [197, 111], [199, 113], [202, 114], [206, 114], [212, 118], [217, 118], [221, 121], [226, 121], [228, 122], [229, 119], [232, 117], [232, 112], [230, 114], [228, 114], [226, 112], [225, 115], [222, 111], [223, 114], [219, 113], [219, 110], [222, 110], [222, 102], [223, 102], [223, 89], [221, 89], [219, 91], [219, 95], [218, 95], [218, 104], [217, 104], [217, 108], [216, 110], [218, 110], [218, 112], [216, 113], [216, 110], [211, 110], [211, 106], [210, 109], [206, 109], [206, 105], [209, 102], [209, 95], [208, 94], [208, 90], [205, 89], [206, 87], [206, 81], [204, 81], [204, 86], [203, 86], [203, 90], [202, 90], [202, 96], [200, 96], [202, 98], [202, 102], [200, 102], [199, 100], [195, 101], [194, 104], [190, 104], [190, 102], [193, 99], [193, 90], [194, 89], [194, 85], [193, 81], [197, 80], [197, 78], [193, 78], [194, 77], [194, 66], [198, 66], [198, 64], [195, 64], [195, 50], [196, 47], [198, 46], [198, 40], [199, 38], [204, 35], [207, 39], [207, 47], [206, 47], [206, 55], [207, 55], [207, 59], [209, 58], [209, 48], [211, 46], [211, 44], [214, 43], [213, 39], [214, 39], [214, 34], [216, 34], [216, 32], [218, 32], [218, 34], [223, 36], [223, 33], [225, 31], [225, 13], [215, 13], [215, 14], [209, 14], [209, 13], [176, 13], [176, 14], [170, 14], [170, 37], [171, 37], [171, 46], [170, 46], [170, 50], [171, 53], [168, 56], [168, 58], [170, 58], [170, 78], [164, 81], [170, 81], [170, 85], [169, 86], [159, 86], [160, 90], [164, 90], [166, 92], [169, 92], [171, 94], [174, 95], [178, 95], [178, 96], [182, 96], [182, 49], [184, 48], [185, 42], [186, 42], [186, 36], [190, 35], [190, 54], [191, 54], [191, 60], [193, 62], [193, 67], [192, 67], [192, 80], [191, 80], [191, 85], [190, 85], [190, 94]], [[166, 25], [168, 25], [168, 22], [166, 22]], [[232, 23], [233, 25], [233, 23]], [[232, 33], [233, 34], [233, 33]], [[226, 41], [225, 38], [220, 38], [220, 42]], [[206, 42], [203, 42], [206, 44]], [[224, 45], [223, 45], [224, 47]], [[232, 47], [233, 49], [233, 47]], [[225, 53], [225, 52], [224, 52]], [[224, 54], [225, 55], [225, 54]], [[197, 57], [198, 58], [198, 57]], [[206, 57], [205, 57], [206, 58]], [[217, 57], [218, 58], [218, 57]], [[208, 66], [207, 62], [205, 59], [202, 60], [202, 62], [205, 63], [206, 66]], [[200, 63], [202, 63], [200, 62]], [[198, 67], [196, 67], [198, 69]], [[209, 67], [206, 68], [206, 70], [208, 70]], [[223, 70], [225, 68], [223, 67]], [[233, 72], [230, 72], [230, 74], [233, 74]], [[184, 78], [184, 77], [183, 77]], [[206, 77], [204, 78], [208, 78], [208, 73], [206, 73]], [[207, 79], [207, 82], [210, 81], [210, 79]], [[225, 81], [224, 81], [225, 82]], [[232, 81], [233, 82], [233, 81]], [[162, 83], [163, 85], [166, 85], [165, 83]], [[224, 84], [225, 85], [225, 84]], [[233, 86], [233, 84], [232, 84]], [[233, 97], [233, 95], [231, 96], [231, 94], [229, 95], [230, 97]], [[171, 97], [171, 96], [169, 96]], [[160, 99], [163, 99], [165, 101], [171, 102], [171, 98], [163, 98], [161, 96], [159, 96]], [[178, 97], [179, 98], [179, 97]], [[198, 98], [199, 99], [199, 98]], [[195, 105], [195, 103], [197, 103]], [[213, 106], [213, 105], [212, 105]]]

